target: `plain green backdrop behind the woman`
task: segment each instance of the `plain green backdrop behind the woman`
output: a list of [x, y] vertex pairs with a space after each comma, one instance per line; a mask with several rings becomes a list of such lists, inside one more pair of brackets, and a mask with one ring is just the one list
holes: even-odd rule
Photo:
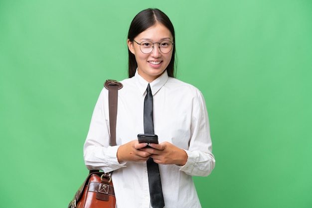
[[170, 17], [177, 78], [206, 100], [202, 207], [311, 208], [311, 0], [0, 0], [0, 207], [67, 207], [93, 107], [127, 78], [128, 28], [148, 7]]

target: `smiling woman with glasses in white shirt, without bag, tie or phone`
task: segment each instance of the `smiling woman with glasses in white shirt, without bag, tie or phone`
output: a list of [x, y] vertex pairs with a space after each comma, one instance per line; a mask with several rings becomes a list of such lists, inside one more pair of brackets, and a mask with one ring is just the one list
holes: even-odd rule
[[[173, 25], [162, 11], [143, 10], [130, 25], [127, 44], [129, 79], [121, 82], [118, 95], [117, 145], [109, 146], [108, 91], [103, 89], [84, 145], [85, 164], [89, 170], [114, 171], [118, 208], [150, 208], [146, 161], [152, 158], [159, 167], [164, 207], [200, 208], [192, 176], [208, 176], [215, 159], [202, 94], [174, 78]], [[137, 139], [144, 133], [148, 85], [159, 144]]]

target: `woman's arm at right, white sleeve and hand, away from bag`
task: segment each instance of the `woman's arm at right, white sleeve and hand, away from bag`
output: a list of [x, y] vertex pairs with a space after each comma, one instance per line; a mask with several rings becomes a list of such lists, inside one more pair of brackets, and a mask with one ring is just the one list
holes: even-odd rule
[[208, 113], [204, 99], [197, 92], [192, 104], [189, 148], [180, 149], [169, 142], [150, 144], [153, 148], [145, 151], [158, 164], [175, 164], [182, 166], [180, 171], [192, 176], [207, 176], [215, 166], [212, 154]]

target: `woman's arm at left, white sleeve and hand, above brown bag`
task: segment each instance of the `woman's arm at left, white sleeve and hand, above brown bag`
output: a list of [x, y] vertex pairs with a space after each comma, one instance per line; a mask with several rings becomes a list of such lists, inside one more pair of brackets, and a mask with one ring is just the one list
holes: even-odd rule
[[127, 161], [142, 162], [150, 153], [140, 150], [146, 143], [138, 140], [123, 145], [109, 146], [108, 91], [103, 89], [95, 105], [89, 132], [84, 144], [84, 160], [89, 170], [111, 172], [126, 167]]

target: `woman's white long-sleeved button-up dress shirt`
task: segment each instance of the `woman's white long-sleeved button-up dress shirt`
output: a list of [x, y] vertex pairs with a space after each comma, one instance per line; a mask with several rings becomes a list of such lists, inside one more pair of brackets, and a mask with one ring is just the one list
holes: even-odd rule
[[[118, 91], [117, 146], [109, 146], [108, 90], [95, 105], [84, 144], [89, 170], [114, 171], [112, 179], [118, 208], [151, 208], [146, 162], [117, 160], [119, 145], [144, 133], [143, 108], [148, 82], [136, 72]], [[154, 130], [159, 143], [184, 149], [184, 166], [159, 165], [165, 208], [200, 208], [192, 176], [208, 176], [215, 166], [204, 98], [192, 85], [168, 77], [166, 71], [150, 83], [154, 102]]]

